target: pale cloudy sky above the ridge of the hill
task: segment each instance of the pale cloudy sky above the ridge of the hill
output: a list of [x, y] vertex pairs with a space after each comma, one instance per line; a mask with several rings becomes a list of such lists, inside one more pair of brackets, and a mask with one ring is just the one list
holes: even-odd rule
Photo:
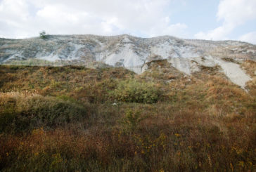
[[256, 44], [256, 0], [0, 0], [0, 37], [171, 35]]

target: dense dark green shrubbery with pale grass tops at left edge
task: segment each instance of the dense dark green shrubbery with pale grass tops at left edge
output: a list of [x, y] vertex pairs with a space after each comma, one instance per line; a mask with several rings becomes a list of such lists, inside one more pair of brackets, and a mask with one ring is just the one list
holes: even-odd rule
[[85, 107], [41, 95], [0, 94], [0, 132], [18, 132], [40, 126], [52, 127], [86, 117]]

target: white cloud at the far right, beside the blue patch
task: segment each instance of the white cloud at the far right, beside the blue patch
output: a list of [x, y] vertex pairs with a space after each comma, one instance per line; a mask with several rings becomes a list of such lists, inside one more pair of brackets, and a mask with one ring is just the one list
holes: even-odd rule
[[255, 0], [222, 0], [219, 2], [217, 20], [222, 20], [222, 26], [208, 32], [198, 32], [196, 39], [228, 39], [229, 34], [249, 20], [256, 19]]

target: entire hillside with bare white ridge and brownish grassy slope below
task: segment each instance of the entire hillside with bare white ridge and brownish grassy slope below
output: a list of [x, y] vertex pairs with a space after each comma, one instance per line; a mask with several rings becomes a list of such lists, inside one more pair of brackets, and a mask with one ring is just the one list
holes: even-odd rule
[[255, 171], [255, 45], [0, 39], [0, 171]]

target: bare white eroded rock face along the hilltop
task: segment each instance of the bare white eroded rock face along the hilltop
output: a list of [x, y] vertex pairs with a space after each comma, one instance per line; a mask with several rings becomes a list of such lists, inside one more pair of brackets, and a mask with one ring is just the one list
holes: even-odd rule
[[148, 70], [146, 62], [167, 59], [180, 72], [191, 75], [200, 66], [219, 65], [234, 84], [245, 88], [250, 77], [234, 62], [256, 60], [256, 46], [240, 41], [186, 40], [175, 37], [138, 38], [129, 35], [100, 37], [94, 35], [49, 36], [48, 39], [0, 39], [0, 63], [36, 58], [50, 62], [70, 62], [87, 66], [101, 62], [125, 67], [137, 74]]

